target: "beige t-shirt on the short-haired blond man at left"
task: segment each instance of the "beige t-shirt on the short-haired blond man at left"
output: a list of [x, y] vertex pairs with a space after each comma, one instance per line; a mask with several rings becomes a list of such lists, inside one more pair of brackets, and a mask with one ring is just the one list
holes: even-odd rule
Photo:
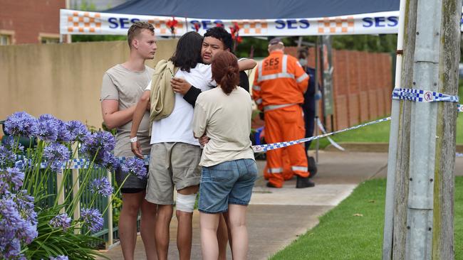
[[[155, 72], [145, 65], [145, 70], [135, 72], [123, 65], [115, 65], [103, 75], [100, 101], [114, 99], [119, 101], [119, 110], [128, 109], [137, 104]], [[130, 148], [130, 129], [132, 121], [118, 127], [116, 135], [115, 156], [134, 156]], [[150, 153], [150, 112], [145, 112], [137, 132], [143, 154]]]

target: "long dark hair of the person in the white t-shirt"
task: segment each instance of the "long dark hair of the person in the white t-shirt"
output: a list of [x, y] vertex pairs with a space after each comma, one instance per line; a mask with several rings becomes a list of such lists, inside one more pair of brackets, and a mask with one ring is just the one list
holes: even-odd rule
[[202, 36], [195, 31], [190, 31], [180, 37], [177, 49], [170, 60], [174, 63], [175, 67], [189, 72], [189, 69], [201, 63], [201, 48]]

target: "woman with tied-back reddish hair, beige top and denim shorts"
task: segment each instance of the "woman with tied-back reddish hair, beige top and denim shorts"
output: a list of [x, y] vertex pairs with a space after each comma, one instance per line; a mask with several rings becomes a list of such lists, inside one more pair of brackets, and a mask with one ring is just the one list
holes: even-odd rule
[[222, 212], [229, 215], [233, 259], [246, 259], [248, 234], [246, 206], [257, 178], [251, 150], [251, 96], [239, 83], [236, 57], [227, 51], [212, 60], [212, 78], [218, 87], [202, 92], [194, 107], [194, 137], [207, 136], [201, 162], [199, 219], [202, 256], [219, 256], [217, 227]]

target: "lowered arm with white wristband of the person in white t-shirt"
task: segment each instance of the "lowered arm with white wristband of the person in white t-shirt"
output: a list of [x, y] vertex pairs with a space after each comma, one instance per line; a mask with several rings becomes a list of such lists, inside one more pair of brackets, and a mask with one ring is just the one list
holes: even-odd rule
[[143, 158], [143, 155], [140, 141], [137, 139], [137, 132], [143, 119], [143, 115], [145, 114], [146, 108], [150, 104], [150, 95], [151, 91], [145, 90], [145, 92], [142, 94], [142, 97], [140, 98], [140, 101], [135, 107], [135, 112], [133, 112], [132, 129], [130, 129], [130, 146], [132, 148], [132, 152], [138, 158]]

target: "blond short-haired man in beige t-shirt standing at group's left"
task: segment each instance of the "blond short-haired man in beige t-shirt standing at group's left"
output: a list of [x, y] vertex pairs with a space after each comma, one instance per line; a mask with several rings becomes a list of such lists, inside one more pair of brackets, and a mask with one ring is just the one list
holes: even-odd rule
[[[150, 23], [136, 22], [128, 31], [130, 57], [123, 64], [111, 67], [103, 75], [101, 87], [101, 111], [103, 121], [109, 129], [117, 129], [115, 156], [132, 157], [130, 148], [130, 129], [135, 106], [145, 86], [150, 82], [154, 70], [145, 65], [145, 60], [154, 58], [157, 46], [155, 31]], [[150, 152], [149, 113], [145, 113], [138, 137], [144, 154]], [[156, 205], [145, 200], [147, 180], [125, 174], [120, 170], [115, 173], [118, 185], [122, 185], [123, 208], [119, 219], [119, 237], [125, 260], [134, 259], [137, 239], [137, 216], [142, 212], [140, 233], [147, 259], [157, 259], [155, 247]]]

